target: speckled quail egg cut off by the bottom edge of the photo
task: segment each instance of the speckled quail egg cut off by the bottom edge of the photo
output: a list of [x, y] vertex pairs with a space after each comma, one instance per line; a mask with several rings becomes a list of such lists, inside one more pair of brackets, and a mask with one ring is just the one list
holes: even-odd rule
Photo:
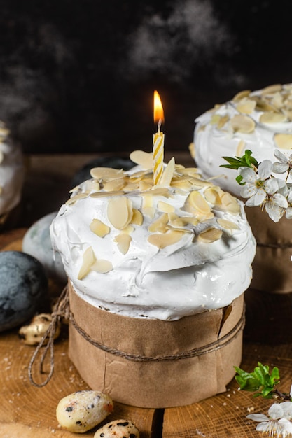
[[115, 420], [99, 428], [93, 438], [139, 438], [137, 426], [128, 420]]

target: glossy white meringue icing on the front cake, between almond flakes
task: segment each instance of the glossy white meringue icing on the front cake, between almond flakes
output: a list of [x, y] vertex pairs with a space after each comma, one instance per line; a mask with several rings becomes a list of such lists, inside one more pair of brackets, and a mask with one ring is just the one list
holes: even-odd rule
[[[182, 168], [176, 167], [176, 178], [180, 178]], [[135, 170], [124, 175], [125, 180], [129, 176], [134, 178]], [[96, 192], [90, 188], [92, 181], [85, 181], [74, 189], [71, 199], [76, 199], [75, 202], [62, 205], [50, 227], [53, 248], [60, 253], [74, 290], [86, 302], [133, 318], [177, 320], [206, 309], [227, 306], [249, 287], [256, 243], [246, 221], [243, 204], [237, 199], [231, 199], [232, 205], [238, 209], [236, 213], [223, 207], [220, 200], [216, 205], [206, 201], [211, 212], [209, 219], [199, 214], [197, 225], [188, 224], [179, 228], [183, 229], [181, 239], [165, 248], [158, 248], [148, 241], [148, 237], [171, 233], [148, 230], [153, 221], [162, 215], [161, 202], [169, 204], [174, 210], [173, 214], [169, 213], [169, 224], [172, 218], [193, 218], [193, 213], [184, 210], [189, 193], [200, 192], [204, 199], [205, 190], [214, 186], [203, 183], [200, 188], [192, 182], [190, 189], [183, 189], [171, 183], [164, 189], [165, 193], [150, 196], [154, 214], [151, 217], [144, 199], [145, 194], [155, 192], [155, 188], [148, 192], [122, 188], [123, 194], [120, 195], [111, 196], [109, 192], [109, 196], [94, 197]], [[105, 194], [103, 183], [99, 180], [100, 192]], [[219, 188], [215, 190], [220, 196], [224, 195]], [[87, 196], [74, 198], [80, 193]], [[92, 194], [93, 197], [90, 196]], [[118, 197], [127, 197], [131, 208], [143, 215], [141, 225], [130, 220], [132, 230], [127, 229], [126, 232], [131, 241], [125, 254], [120, 252], [115, 241], [116, 236], [124, 231], [113, 227], [108, 215], [109, 201]], [[92, 232], [90, 223], [94, 218], [107, 225], [110, 232], [103, 237]], [[232, 229], [224, 229], [218, 219], [223, 225], [225, 222], [221, 220], [228, 220]], [[202, 235], [210, 227], [223, 232], [220, 239], [211, 243], [197, 239], [197, 235]], [[88, 248], [92, 248], [97, 260], [111, 262], [113, 269], [104, 274], [90, 270], [78, 279], [83, 254]]]

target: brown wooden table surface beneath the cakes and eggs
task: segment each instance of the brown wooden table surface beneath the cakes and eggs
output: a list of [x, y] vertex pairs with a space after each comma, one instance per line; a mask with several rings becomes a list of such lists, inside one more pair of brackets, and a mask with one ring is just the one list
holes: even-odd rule
[[[100, 155], [99, 155], [100, 156]], [[27, 157], [27, 177], [17, 227], [0, 234], [0, 250], [21, 249], [27, 227], [56, 211], [68, 197], [71, 178], [84, 163], [97, 155], [34, 155]], [[168, 156], [166, 157], [169, 158]], [[188, 152], [176, 154], [176, 162], [193, 165]], [[278, 366], [279, 388], [289, 392], [292, 383], [292, 298], [256, 290], [246, 292], [246, 326], [242, 367], [252, 371], [257, 362]], [[18, 339], [18, 330], [0, 334], [0, 437], [76, 437], [61, 430], [55, 418], [60, 398], [88, 388], [67, 356], [67, 330], [55, 343], [55, 373], [43, 388], [29, 383], [27, 367], [34, 351]], [[141, 438], [260, 437], [250, 412], [267, 413], [270, 400], [240, 392], [233, 379], [225, 393], [186, 407], [140, 409], [115, 404], [107, 421], [127, 418]], [[95, 430], [84, 434], [93, 437]]]

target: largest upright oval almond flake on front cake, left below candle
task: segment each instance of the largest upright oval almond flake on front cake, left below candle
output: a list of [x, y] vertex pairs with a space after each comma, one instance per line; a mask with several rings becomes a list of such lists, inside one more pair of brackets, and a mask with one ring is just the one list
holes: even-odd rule
[[133, 216], [132, 201], [127, 197], [109, 199], [107, 206], [109, 222], [116, 229], [123, 229], [131, 222]]

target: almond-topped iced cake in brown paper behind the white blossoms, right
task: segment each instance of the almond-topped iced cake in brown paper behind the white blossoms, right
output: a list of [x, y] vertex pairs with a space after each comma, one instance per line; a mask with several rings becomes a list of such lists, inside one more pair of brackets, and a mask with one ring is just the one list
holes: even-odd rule
[[[195, 122], [194, 158], [202, 175], [240, 197], [242, 187], [235, 180], [238, 174], [221, 167], [226, 164], [223, 157], [242, 157], [245, 150], [251, 150], [259, 163], [276, 162], [274, 152], [278, 150], [286, 155], [287, 162], [291, 160], [292, 84], [244, 90], [230, 101], [215, 105]], [[277, 178], [286, 176], [286, 172], [277, 174]], [[279, 224], [274, 223], [259, 206], [246, 208], [246, 216], [258, 244], [252, 288], [291, 292], [290, 220], [283, 217]]]

